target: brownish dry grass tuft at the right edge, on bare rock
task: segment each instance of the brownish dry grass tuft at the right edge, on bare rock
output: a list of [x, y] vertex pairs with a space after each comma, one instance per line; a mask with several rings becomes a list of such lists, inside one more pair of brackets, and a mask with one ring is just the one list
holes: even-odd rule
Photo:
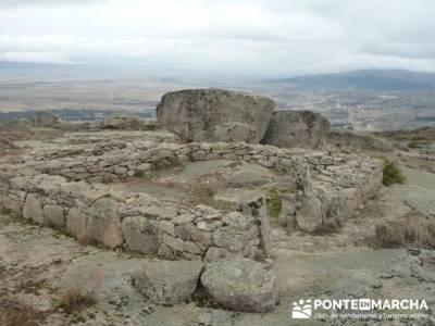
[[375, 242], [383, 248], [435, 248], [435, 222], [411, 214], [403, 221], [376, 225]]

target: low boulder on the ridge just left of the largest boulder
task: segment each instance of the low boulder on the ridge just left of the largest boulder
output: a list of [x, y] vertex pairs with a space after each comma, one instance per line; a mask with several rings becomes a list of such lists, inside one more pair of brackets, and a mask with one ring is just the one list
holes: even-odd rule
[[157, 128], [157, 125], [153, 122], [147, 122], [138, 115], [112, 113], [101, 122], [101, 128], [114, 130], [153, 130]]

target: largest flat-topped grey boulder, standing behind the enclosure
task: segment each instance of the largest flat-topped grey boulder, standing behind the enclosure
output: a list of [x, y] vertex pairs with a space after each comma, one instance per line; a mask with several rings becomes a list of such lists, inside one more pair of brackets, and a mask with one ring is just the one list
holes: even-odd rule
[[169, 92], [157, 106], [159, 122], [187, 141], [246, 141], [263, 138], [275, 103], [265, 97], [223, 89]]

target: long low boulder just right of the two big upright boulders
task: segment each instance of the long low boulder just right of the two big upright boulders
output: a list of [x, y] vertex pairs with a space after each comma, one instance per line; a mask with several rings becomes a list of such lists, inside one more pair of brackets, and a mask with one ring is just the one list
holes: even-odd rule
[[338, 150], [349, 153], [355, 153], [359, 150], [373, 152], [390, 152], [393, 150], [385, 139], [364, 131], [332, 129], [327, 133], [325, 140]]

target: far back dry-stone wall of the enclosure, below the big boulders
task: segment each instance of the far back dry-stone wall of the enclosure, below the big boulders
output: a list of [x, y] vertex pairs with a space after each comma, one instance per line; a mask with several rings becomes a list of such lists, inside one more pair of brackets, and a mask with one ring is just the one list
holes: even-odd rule
[[14, 174], [60, 175], [67, 180], [113, 183], [151, 173], [177, 161], [234, 160], [257, 163], [294, 174], [306, 162], [300, 153], [275, 147], [239, 143], [110, 143], [55, 151], [33, 150], [16, 158]]

